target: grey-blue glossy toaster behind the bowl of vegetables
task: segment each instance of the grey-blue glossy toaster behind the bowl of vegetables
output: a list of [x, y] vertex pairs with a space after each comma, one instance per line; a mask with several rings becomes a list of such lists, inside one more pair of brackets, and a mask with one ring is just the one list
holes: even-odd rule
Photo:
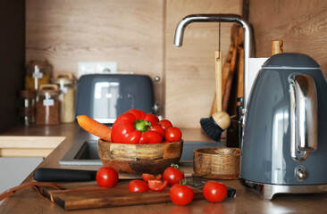
[[76, 93], [76, 116], [88, 115], [111, 124], [123, 112], [154, 111], [153, 84], [147, 75], [87, 74], [80, 77]]

